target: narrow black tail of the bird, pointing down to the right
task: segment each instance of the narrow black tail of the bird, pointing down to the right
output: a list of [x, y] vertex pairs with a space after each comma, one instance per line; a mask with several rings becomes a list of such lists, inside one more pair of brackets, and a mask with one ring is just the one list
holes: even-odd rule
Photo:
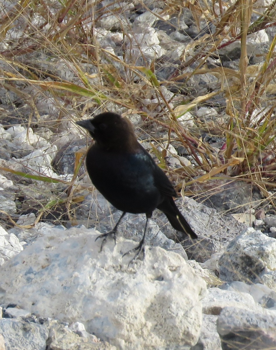
[[164, 214], [168, 218], [168, 221], [175, 230], [186, 233], [186, 235], [190, 238], [197, 238], [197, 235], [195, 234], [193, 229], [191, 229], [191, 226], [187, 223], [186, 219], [184, 219], [183, 215], [176, 207], [176, 204], [174, 203], [172, 197], [169, 198], [169, 200], [162, 202], [160, 205], [158, 205], [157, 208], [164, 212]]

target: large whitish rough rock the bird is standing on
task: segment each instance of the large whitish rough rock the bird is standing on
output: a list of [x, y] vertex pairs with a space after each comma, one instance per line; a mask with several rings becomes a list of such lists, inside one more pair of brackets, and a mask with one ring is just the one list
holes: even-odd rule
[[[118, 349], [139, 350], [196, 344], [206, 284], [178, 254], [146, 248], [145, 261], [132, 255], [137, 243], [109, 239], [101, 253], [94, 230], [75, 229], [38, 238], [0, 269], [0, 302], [32, 313], [82, 322]], [[13, 276], [11, 279], [10, 276]]]

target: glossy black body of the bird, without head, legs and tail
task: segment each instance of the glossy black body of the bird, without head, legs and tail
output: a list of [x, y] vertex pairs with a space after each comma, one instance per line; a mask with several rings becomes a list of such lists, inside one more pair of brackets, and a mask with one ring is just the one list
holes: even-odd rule
[[152, 213], [164, 199], [155, 184], [160, 168], [140, 147], [135, 153], [104, 153], [96, 145], [87, 153], [87, 171], [95, 187], [119, 210]]

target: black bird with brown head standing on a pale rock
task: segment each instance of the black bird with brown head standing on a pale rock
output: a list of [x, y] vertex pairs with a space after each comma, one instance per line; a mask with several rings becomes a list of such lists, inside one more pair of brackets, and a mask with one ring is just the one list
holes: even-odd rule
[[113, 237], [116, 244], [118, 225], [127, 212], [146, 215], [143, 238], [137, 247], [123, 254], [136, 252], [131, 261], [141, 250], [145, 257], [148, 219], [155, 209], [164, 212], [174, 229], [192, 239], [197, 238], [174, 202], [173, 197], [178, 195], [172, 183], [138, 142], [128, 118], [104, 112], [75, 123], [85, 128], [94, 140], [86, 154], [86, 168], [93, 185], [108, 202], [122, 211], [114, 228], [96, 238], [103, 238], [101, 251], [108, 237]]

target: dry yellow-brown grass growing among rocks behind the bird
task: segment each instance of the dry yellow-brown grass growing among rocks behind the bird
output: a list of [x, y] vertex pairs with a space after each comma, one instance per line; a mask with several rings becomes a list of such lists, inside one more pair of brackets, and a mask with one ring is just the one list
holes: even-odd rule
[[[135, 3], [137, 7], [139, 4]], [[159, 20], [166, 14], [180, 16], [186, 6], [198, 26], [205, 20], [206, 25], [211, 22], [215, 30], [191, 40], [181, 55], [181, 71], [166, 81], [159, 81], [155, 74], [156, 60], [149, 61], [141, 52], [142, 59], [138, 62], [132, 50], [126, 50], [127, 45], [137, 47], [135, 41], [130, 41], [132, 29], [124, 20], [125, 13], [119, 2], [107, 7], [101, 6], [99, 0], [11, 3], [1, 10], [0, 16], [0, 85], [6, 91], [7, 103], [9, 94], [13, 93], [21, 104], [29, 106], [29, 125], [47, 126], [57, 134], [66, 121], [70, 126], [74, 119], [90, 112], [111, 109], [128, 115], [134, 111], [140, 114], [147, 128], [162, 127], [167, 130], [169, 140], [176, 139], [188, 150], [193, 159], [192, 168], [185, 165], [176, 170], [167, 168], [182, 193], [185, 186], [208, 182], [223, 173], [229, 181], [236, 178], [255, 184], [263, 197], [274, 205], [269, 191], [274, 191], [276, 170], [276, 38], [271, 41], [263, 63], [256, 65], [248, 63], [247, 38], [249, 34], [276, 24], [275, 1], [262, 13], [255, 2], [248, 4], [245, 0], [213, 1], [212, 4], [205, 1], [166, 2], [162, 13], [158, 14]], [[99, 44], [101, 21], [111, 14], [119, 19], [117, 33], [122, 33], [124, 38], [121, 56]], [[257, 16], [253, 23], [250, 22], [252, 14]], [[241, 48], [236, 70], [219, 64], [221, 50], [233, 42], [240, 42]], [[216, 66], [208, 65], [210, 57], [217, 58]], [[142, 66], [141, 62], [147, 63]], [[188, 84], [194, 76], [206, 74], [216, 78], [218, 89], [204, 94], [198, 92], [197, 96], [187, 93], [175, 94], [170, 100], [165, 97], [163, 86], [181, 89], [185, 85], [183, 79]], [[178, 118], [187, 111], [204, 105], [217, 94], [226, 99], [222, 121], [195, 120], [193, 128], [178, 123]], [[149, 102], [153, 99], [154, 102]], [[41, 117], [37, 107], [40, 100], [55, 105], [55, 113], [47, 119]], [[202, 140], [202, 132], [225, 137], [225, 144], [220, 149], [213, 148]], [[162, 167], [166, 167], [166, 152], [155, 152], [155, 155]], [[79, 188], [74, 186], [78, 160], [73, 179], [65, 183], [69, 190], [64, 191], [62, 199], [59, 194], [55, 197], [52, 193], [48, 203], [40, 202], [41, 211], [50, 210], [63, 201], [68, 218], [73, 220], [71, 204], [79, 203], [83, 198]], [[21, 175], [26, 176], [24, 172]], [[42, 174], [28, 176], [33, 180], [49, 181], [46, 177], [36, 177]], [[190, 190], [187, 193], [193, 194]], [[204, 193], [197, 195], [204, 197]]]

